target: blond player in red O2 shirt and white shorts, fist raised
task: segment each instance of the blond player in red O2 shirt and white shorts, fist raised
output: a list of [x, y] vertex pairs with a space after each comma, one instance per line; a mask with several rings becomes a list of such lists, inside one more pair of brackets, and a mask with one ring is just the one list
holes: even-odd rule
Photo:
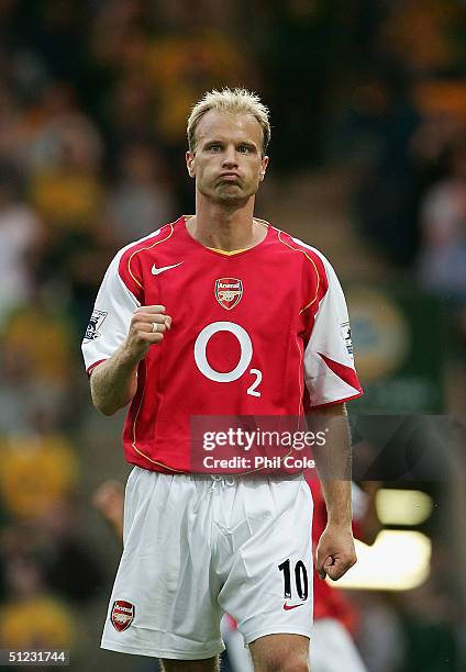
[[196, 473], [195, 416], [341, 419], [315, 452], [329, 513], [317, 568], [339, 579], [356, 561], [344, 402], [362, 390], [346, 305], [320, 253], [254, 217], [269, 137], [245, 90], [193, 107], [196, 214], [116, 254], [82, 344], [95, 405], [131, 404], [135, 466], [102, 647], [160, 658], [166, 672], [218, 670], [223, 612], [256, 672], [309, 669], [309, 486], [299, 473]]

